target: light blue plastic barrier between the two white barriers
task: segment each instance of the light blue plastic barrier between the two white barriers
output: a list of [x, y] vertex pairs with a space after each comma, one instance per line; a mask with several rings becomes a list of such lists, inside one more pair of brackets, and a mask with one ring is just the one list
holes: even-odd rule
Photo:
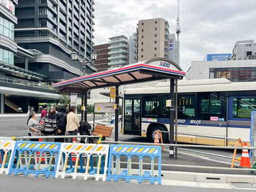
[[58, 142], [16, 142], [9, 175], [34, 173], [35, 177], [38, 174], [55, 177], [60, 145]]

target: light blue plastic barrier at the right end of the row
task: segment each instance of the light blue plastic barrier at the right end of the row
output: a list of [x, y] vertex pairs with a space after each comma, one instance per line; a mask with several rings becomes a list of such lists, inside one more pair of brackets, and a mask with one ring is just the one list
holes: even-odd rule
[[[120, 168], [121, 156], [127, 157], [127, 169]], [[139, 173], [131, 171], [131, 159], [133, 156], [139, 158]], [[143, 171], [143, 158], [150, 158], [151, 170]], [[114, 168], [115, 158], [115, 168]], [[157, 174], [154, 170], [154, 161], [158, 158]], [[161, 148], [159, 146], [133, 146], [133, 145], [115, 145], [112, 144], [109, 150], [109, 162], [107, 171], [107, 181], [113, 178], [116, 182], [117, 179], [125, 179], [128, 183], [130, 179], [137, 179], [139, 183], [143, 180], [155, 181], [161, 184]], [[155, 175], [156, 174], [156, 175]]]

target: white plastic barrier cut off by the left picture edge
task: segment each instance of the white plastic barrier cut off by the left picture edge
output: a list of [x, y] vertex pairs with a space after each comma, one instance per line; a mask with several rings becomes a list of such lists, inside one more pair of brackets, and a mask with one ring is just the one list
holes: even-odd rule
[[9, 173], [14, 147], [15, 141], [0, 140], [0, 174]]

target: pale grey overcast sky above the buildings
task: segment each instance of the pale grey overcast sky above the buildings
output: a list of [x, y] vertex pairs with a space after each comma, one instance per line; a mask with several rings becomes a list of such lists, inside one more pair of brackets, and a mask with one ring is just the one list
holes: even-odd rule
[[[141, 19], [162, 17], [176, 29], [176, 0], [95, 0], [95, 42], [135, 32]], [[181, 0], [180, 65], [231, 53], [236, 40], [256, 40], [256, 0]]]

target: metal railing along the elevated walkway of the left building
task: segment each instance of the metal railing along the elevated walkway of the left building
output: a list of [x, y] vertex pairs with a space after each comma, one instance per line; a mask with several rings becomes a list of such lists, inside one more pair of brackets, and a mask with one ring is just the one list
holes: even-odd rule
[[24, 80], [24, 79], [17, 79], [17, 78], [14, 78], [14, 77], [7, 77], [7, 76], [3, 76], [3, 75], [0, 75], [0, 82], [14, 83], [14, 84], [17, 84], [17, 85], [26, 85], [26, 86], [37, 87], [37, 88], [41, 88], [41, 89], [54, 90], [52, 85], [49, 85], [47, 83], [36, 83], [36, 82], [33, 82], [33, 81], [27, 81], [27, 80]]

